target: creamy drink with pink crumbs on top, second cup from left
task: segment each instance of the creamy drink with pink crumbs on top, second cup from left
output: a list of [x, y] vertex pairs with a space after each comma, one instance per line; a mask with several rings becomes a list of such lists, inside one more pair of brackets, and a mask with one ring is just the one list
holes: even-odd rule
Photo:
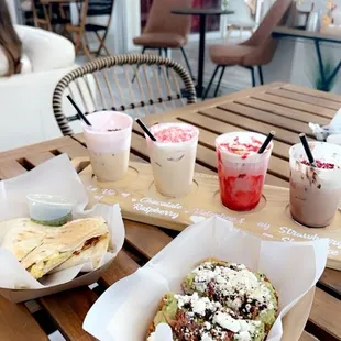
[[166, 197], [186, 196], [191, 188], [199, 130], [186, 123], [161, 123], [150, 128], [147, 147], [156, 189]]

